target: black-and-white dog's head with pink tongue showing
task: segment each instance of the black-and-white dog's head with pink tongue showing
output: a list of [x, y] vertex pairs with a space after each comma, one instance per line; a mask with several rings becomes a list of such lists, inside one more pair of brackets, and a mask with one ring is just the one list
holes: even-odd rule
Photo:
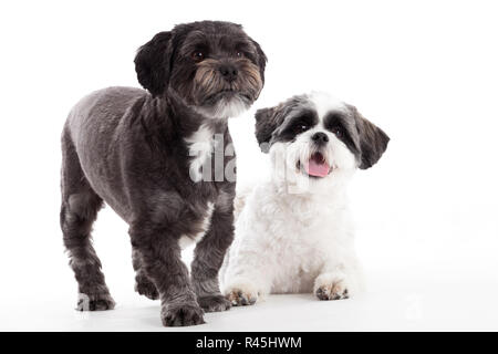
[[388, 136], [357, 110], [324, 93], [294, 96], [256, 113], [256, 137], [286, 178], [343, 181], [372, 167]]

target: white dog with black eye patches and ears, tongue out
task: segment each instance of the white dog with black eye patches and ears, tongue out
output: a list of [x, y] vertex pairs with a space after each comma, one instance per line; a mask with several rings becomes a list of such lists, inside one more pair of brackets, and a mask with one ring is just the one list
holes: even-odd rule
[[221, 272], [226, 296], [234, 305], [268, 293], [347, 298], [361, 288], [361, 272], [346, 185], [381, 158], [390, 138], [354, 106], [323, 93], [260, 110], [256, 121], [272, 177], [240, 196]]

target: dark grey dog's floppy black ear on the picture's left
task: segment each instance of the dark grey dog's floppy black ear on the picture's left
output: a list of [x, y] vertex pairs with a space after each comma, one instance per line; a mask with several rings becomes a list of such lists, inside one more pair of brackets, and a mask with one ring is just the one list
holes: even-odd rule
[[168, 84], [172, 70], [172, 32], [159, 32], [142, 45], [135, 56], [138, 82], [153, 96], [162, 94]]

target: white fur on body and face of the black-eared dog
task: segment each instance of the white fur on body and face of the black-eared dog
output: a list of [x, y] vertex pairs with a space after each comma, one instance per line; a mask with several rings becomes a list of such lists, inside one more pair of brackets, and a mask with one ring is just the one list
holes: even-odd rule
[[[320, 119], [342, 107], [322, 94], [311, 97]], [[322, 153], [332, 171], [324, 178], [310, 178], [295, 167], [314, 152], [311, 136], [317, 132], [330, 139]], [[319, 288], [354, 294], [361, 288], [361, 272], [346, 198], [357, 166], [354, 155], [320, 122], [293, 143], [273, 144], [270, 157], [271, 179], [258, 185], [245, 202], [236, 202], [242, 210], [221, 271], [225, 294], [240, 292], [255, 299]]]

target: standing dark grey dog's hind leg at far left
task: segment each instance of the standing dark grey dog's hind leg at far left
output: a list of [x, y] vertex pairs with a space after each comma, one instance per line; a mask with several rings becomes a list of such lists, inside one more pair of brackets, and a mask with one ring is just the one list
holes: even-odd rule
[[62, 137], [61, 189], [63, 241], [79, 284], [76, 310], [111, 310], [115, 303], [105, 284], [101, 261], [91, 239], [92, 225], [103, 201], [86, 180], [69, 134]]

